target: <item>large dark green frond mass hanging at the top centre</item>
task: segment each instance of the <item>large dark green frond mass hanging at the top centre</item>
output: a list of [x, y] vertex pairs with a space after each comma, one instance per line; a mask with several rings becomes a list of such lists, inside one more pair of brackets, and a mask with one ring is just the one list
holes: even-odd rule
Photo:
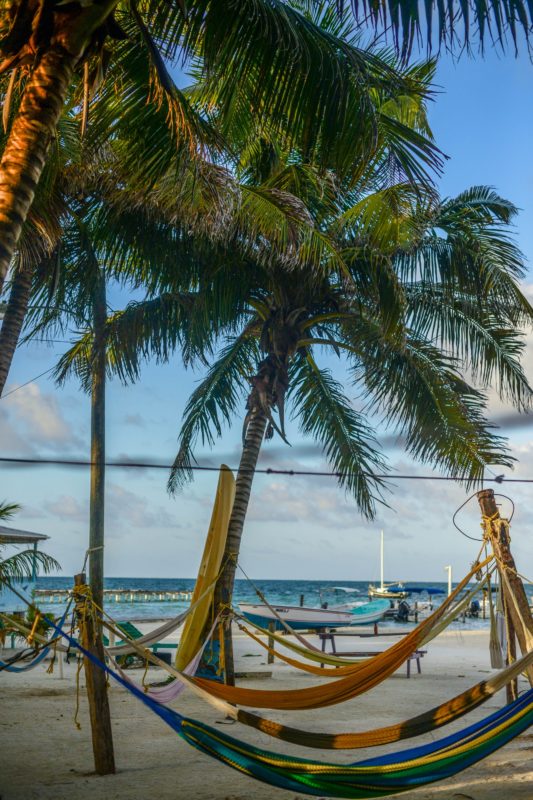
[[[161, 7], [161, 0], [154, 3]], [[415, 82], [390, 58], [358, 47], [353, 37], [338, 38], [332, 19], [313, 18], [283, 0], [239, 0], [230, 8], [203, 0], [190, 8], [186, 23], [176, 21], [203, 69], [197, 100], [214, 110], [224, 135], [242, 147], [266, 129], [267, 139], [274, 134], [284, 149], [340, 176], [375, 151], [378, 105], [387, 93], [409, 94]], [[398, 153], [401, 138], [409, 139], [410, 155], [401, 156], [409, 174], [419, 172], [417, 159], [424, 173], [438, 168], [438, 150], [422, 134], [411, 136], [385, 116], [383, 125], [393, 131]]]

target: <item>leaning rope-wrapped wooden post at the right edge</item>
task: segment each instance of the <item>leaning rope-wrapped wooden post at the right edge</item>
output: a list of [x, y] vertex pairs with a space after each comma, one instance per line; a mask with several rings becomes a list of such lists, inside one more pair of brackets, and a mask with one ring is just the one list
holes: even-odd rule
[[[481, 513], [484, 517], [494, 520], [494, 525], [489, 533], [490, 543], [494, 554], [499, 562], [499, 569], [505, 570], [505, 575], [509, 584], [509, 591], [512, 597], [507, 596], [504, 582], [500, 582], [500, 591], [506, 609], [507, 635], [511, 642], [516, 635], [518, 645], [523, 654], [528, 652], [528, 643], [524, 628], [533, 637], [533, 616], [529, 609], [527, 595], [524, 585], [516, 572], [516, 564], [511, 554], [507, 526], [501, 521], [500, 512], [494, 498], [492, 489], [482, 489], [477, 493]], [[511, 645], [512, 648], [512, 645]], [[512, 656], [512, 649], [508, 649], [508, 654]], [[533, 686], [533, 667], [528, 667], [527, 674], [530, 684]]]

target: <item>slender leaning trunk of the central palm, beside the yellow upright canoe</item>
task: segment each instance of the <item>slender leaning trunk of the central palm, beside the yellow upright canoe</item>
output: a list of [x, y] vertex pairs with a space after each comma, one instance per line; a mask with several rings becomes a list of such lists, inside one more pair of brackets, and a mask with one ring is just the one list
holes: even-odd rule
[[[224, 568], [215, 588], [215, 608], [227, 607], [231, 604], [237, 559], [241, 547], [244, 520], [248, 511], [250, 493], [254, 480], [255, 468], [263, 443], [267, 426], [267, 418], [257, 411], [248, 424], [246, 439], [242, 449], [239, 472], [235, 482], [235, 500], [228, 526], [228, 538], [224, 551]], [[225, 617], [225, 618], [224, 618]], [[222, 615], [222, 630], [224, 636], [224, 679], [226, 683], [235, 683], [235, 665], [233, 659], [233, 641], [231, 638], [231, 618], [228, 614]]]

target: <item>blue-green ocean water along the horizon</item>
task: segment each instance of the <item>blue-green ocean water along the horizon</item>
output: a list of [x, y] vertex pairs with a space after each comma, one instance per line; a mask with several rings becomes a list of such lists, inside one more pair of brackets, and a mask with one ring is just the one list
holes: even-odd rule
[[[246, 580], [237, 580], [235, 584], [234, 602], [255, 603], [261, 602], [255, 592], [254, 586], [261, 591], [270, 603], [275, 605], [300, 605], [300, 598], [303, 595], [304, 605], [320, 606], [323, 600], [327, 600], [330, 605], [345, 602], [343, 595], [333, 594], [331, 590], [334, 586], [350, 587], [356, 593], [347, 595], [346, 598], [352, 599], [354, 596], [365, 602], [367, 599], [369, 581], [307, 581], [307, 580], [257, 580], [254, 585]], [[418, 585], [425, 585], [420, 583]], [[434, 586], [447, 590], [446, 583], [431, 582], [428, 587]], [[71, 578], [41, 577], [37, 581], [38, 589], [70, 589], [72, 587]], [[192, 578], [106, 578], [106, 589], [128, 589], [141, 590], [145, 592], [179, 592], [192, 591], [194, 579]], [[533, 603], [533, 587], [526, 587], [529, 593], [530, 603]], [[442, 602], [445, 595], [435, 595], [433, 602], [438, 605]], [[412, 595], [408, 602], [413, 605], [416, 599], [420, 602], [428, 600], [427, 594]], [[57, 611], [57, 603], [39, 603], [43, 611]], [[119, 620], [154, 620], [167, 619], [175, 616], [188, 605], [188, 601], [161, 602], [154, 600], [151, 602], [115, 602], [114, 597], [107, 595], [106, 608], [109, 613]], [[386, 621], [383, 624], [394, 626], [394, 621]], [[467, 619], [465, 622], [456, 622], [456, 626], [463, 629], [482, 628], [488, 625], [488, 620]]]

